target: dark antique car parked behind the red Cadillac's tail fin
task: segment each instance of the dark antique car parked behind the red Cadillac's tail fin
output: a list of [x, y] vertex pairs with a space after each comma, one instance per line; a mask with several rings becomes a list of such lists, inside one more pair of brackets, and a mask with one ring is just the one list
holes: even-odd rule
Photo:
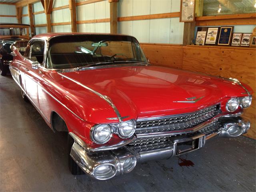
[[5, 76], [8, 65], [12, 62], [11, 46], [16, 44], [20, 53], [24, 54], [29, 41], [29, 25], [15, 23], [0, 23], [0, 74]]

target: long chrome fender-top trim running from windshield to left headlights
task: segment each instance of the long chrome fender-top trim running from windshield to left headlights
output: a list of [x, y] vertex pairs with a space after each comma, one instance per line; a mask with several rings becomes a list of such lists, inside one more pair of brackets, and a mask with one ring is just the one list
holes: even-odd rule
[[76, 81], [76, 80], [74, 80], [74, 79], [72, 79], [72, 78], [70, 78], [70, 77], [68, 77], [68, 76], [66, 76], [64, 74], [61, 74], [61, 73], [58, 73], [58, 74], [60, 76], [64, 77], [64, 78], [66, 78], [66, 79], [68, 79], [68, 80], [70, 80], [70, 81], [72, 81], [72, 82], [82, 86], [83, 88], [86, 88], [87, 90], [89, 90], [89, 91], [93, 92], [94, 94], [98, 95], [100, 98], [104, 99], [113, 108], [113, 110], [116, 113], [116, 116], [118, 118], [118, 121], [122, 122], [122, 116], [121, 116], [120, 112], [118, 111], [118, 109], [116, 108], [116, 106], [114, 105], [114, 103], [111, 101], [111, 99], [108, 96], [102, 95], [99, 92], [97, 92], [97, 91], [95, 91], [95, 90], [85, 86], [84, 84], [82, 84], [82, 83], [80, 83], [80, 82], [78, 82], [78, 81]]

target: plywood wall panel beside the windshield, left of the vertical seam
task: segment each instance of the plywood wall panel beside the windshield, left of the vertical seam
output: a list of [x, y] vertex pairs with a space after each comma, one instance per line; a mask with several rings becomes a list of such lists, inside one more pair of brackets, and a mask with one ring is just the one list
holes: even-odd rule
[[140, 43], [150, 64], [182, 69], [181, 45]]

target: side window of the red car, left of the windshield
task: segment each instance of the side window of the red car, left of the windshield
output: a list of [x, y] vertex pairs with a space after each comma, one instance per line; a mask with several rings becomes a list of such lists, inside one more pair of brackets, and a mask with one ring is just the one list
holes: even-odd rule
[[44, 60], [44, 41], [33, 41], [30, 44], [30, 52], [28, 58], [32, 61], [38, 61], [40, 64]]

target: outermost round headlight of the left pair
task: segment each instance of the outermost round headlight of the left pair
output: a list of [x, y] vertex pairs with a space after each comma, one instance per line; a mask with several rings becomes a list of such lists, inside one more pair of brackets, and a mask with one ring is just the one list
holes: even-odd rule
[[97, 144], [104, 144], [110, 140], [112, 135], [111, 128], [107, 124], [96, 125], [92, 129], [92, 140]]

